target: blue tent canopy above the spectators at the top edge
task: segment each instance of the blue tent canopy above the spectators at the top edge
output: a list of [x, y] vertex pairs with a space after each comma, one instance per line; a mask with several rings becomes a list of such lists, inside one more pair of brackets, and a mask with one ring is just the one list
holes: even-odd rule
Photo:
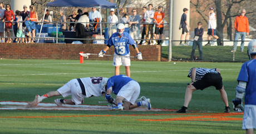
[[106, 0], [56, 0], [48, 2], [47, 7], [100, 7], [100, 8], [117, 8], [117, 4]]

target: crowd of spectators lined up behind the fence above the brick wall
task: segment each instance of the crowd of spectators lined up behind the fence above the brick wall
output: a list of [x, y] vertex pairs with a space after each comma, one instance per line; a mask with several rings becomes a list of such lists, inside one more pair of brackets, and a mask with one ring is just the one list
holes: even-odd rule
[[[28, 9], [29, 8], [29, 9]], [[153, 10], [153, 5], [149, 4], [148, 8], [143, 7], [143, 15], [142, 17], [138, 14], [137, 9], [132, 9], [131, 13], [127, 12], [126, 8], [120, 9], [120, 22], [125, 24], [125, 28], [129, 28], [130, 35], [133, 39], [135, 39], [137, 44], [160, 44], [161, 41], [155, 41], [155, 39], [163, 38], [163, 27], [162, 24], [164, 22], [164, 13], [163, 7], [159, 7], [158, 11], [155, 12]], [[84, 32], [86, 31], [96, 31], [97, 23], [102, 21], [102, 16], [97, 8], [92, 7], [91, 12], [82, 12], [82, 9], [73, 9], [72, 14], [68, 17], [64, 14], [65, 11], [60, 9], [60, 19], [58, 22], [61, 22], [61, 31], [76, 31], [76, 38], [83, 38]], [[14, 15], [15, 13], [15, 15]], [[116, 25], [119, 22], [119, 17], [116, 16], [115, 9], [110, 9], [110, 16], [107, 17], [108, 24], [108, 35], [109, 37], [117, 32]], [[20, 43], [35, 43], [36, 42], [36, 24], [42, 22], [42, 24], [53, 24], [53, 17], [49, 9], [46, 9], [45, 16], [41, 20], [38, 19], [38, 14], [36, 8], [31, 5], [23, 6], [23, 11], [16, 10], [12, 11], [11, 6], [9, 4], [0, 3], [0, 36], [3, 37], [3, 33], [5, 32], [6, 38], [1, 38], [1, 42], [20, 42]], [[67, 26], [67, 23], [62, 22], [73, 22]], [[92, 23], [89, 23], [92, 22]], [[140, 30], [142, 24], [143, 29]], [[142, 32], [142, 33], [141, 33]], [[141, 39], [146, 39], [144, 42]], [[160, 34], [160, 35], [159, 35]], [[16, 38], [13, 38], [16, 37]], [[143, 43], [142, 43], [143, 42]]]

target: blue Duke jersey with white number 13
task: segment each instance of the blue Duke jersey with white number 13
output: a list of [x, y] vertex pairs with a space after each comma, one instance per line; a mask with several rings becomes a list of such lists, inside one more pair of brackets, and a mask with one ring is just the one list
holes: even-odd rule
[[107, 44], [115, 47], [115, 53], [120, 56], [125, 56], [130, 53], [129, 44], [137, 44], [134, 42], [134, 39], [131, 38], [130, 34], [124, 32], [121, 38], [118, 37], [118, 33], [113, 33], [112, 36], [107, 40]]

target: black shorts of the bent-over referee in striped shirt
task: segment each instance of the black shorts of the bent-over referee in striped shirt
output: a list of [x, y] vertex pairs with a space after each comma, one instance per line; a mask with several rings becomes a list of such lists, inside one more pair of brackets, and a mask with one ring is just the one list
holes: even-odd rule
[[223, 87], [222, 77], [220, 73], [206, 73], [201, 80], [192, 84], [196, 90], [204, 90], [206, 87], [214, 86], [216, 90], [221, 90]]

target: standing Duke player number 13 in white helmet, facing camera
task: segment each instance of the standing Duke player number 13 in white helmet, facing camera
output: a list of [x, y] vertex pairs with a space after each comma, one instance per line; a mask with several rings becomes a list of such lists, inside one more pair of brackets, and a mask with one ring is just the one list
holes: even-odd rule
[[115, 47], [115, 57], [113, 58], [113, 66], [115, 66], [115, 75], [120, 75], [120, 66], [123, 64], [125, 66], [126, 76], [130, 77], [130, 66], [131, 59], [130, 57], [119, 57], [119, 56], [130, 56], [129, 44], [134, 47], [137, 52], [137, 58], [139, 60], [142, 59], [141, 52], [137, 48], [137, 44], [134, 42], [134, 39], [131, 38], [130, 34], [124, 32], [125, 25], [122, 23], [117, 24], [116, 33], [112, 34], [112, 36], [107, 40], [107, 46], [101, 50], [99, 53], [99, 57], [103, 57], [106, 51], [111, 47]]

